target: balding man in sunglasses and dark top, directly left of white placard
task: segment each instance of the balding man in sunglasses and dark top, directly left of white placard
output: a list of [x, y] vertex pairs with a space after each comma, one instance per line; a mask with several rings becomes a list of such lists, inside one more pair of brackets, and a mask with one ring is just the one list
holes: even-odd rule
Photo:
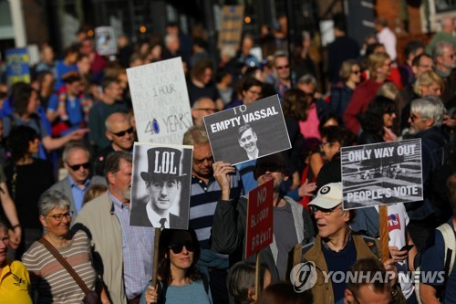
[[110, 152], [133, 150], [135, 141], [135, 131], [131, 126], [130, 119], [124, 112], [115, 112], [108, 116], [105, 121], [105, 136], [109, 140], [109, 145], [98, 152], [95, 158], [95, 174], [102, 176], [104, 174], [105, 162]]

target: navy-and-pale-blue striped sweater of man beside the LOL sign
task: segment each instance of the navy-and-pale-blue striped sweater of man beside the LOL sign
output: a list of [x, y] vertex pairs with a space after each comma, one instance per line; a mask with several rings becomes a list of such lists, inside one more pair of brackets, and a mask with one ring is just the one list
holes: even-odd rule
[[[243, 183], [238, 172], [232, 175], [230, 196], [233, 199], [241, 196]], [[192, 175], [192, 196], [190, 197], [189, 225], [195, 230], [202, 249], [210, 249], [211, 229], [215, 207], [222, 195], [219, 183], [213, 177], [206, 184]]]

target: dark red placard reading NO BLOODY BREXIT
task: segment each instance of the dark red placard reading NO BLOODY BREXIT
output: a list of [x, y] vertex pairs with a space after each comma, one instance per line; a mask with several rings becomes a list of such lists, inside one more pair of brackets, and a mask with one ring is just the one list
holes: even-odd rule
[[245, 236], [245, 258], [273, 242], [274, 180], [254, 188], [249, 193]]

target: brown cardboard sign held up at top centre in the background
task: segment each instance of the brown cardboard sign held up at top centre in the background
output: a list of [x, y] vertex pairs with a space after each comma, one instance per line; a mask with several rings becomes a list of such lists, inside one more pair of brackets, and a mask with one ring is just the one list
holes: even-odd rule
[[239, 49], [244, 25], [244, 5], [224, 5], [222, 26], [219, 31], [219, 49], [233, 47]]

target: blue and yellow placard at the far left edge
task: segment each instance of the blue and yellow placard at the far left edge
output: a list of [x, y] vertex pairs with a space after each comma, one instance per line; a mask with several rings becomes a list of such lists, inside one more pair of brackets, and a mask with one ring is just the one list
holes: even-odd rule
[[6, 82], [12, 86], [16, 82], [30, 83], [30, 68], [28, 67], [28, 52], [26, 47], [10, 48], [5, 51]]

